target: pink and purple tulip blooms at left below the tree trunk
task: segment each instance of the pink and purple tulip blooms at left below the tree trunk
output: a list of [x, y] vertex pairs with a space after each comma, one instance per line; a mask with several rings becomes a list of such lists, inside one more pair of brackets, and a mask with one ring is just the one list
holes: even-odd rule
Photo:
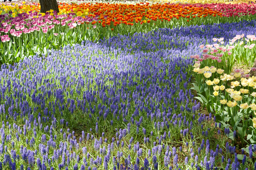
[[[81, 25], [81, 23], [97, 20], [97, 18], [91, 19], [90, 17], [73, 17], [75, 13], [70, 13], [69, 16], [67, 14], [57, 15], [57, 12], [54, 11], [53, 14], [54, 16], [49, 15], [49, 13], [42, 16], [42, 14], [38, 14], [37, 12], [29, 11], [29, 14], [18, 14], [18, 16], [14, 18], [8, 18], [9, 16], [6, 16], [4, 22], [1, 24], [2, 28], [0, 28], [0, 32], [5, 34], [10, 33], [14, 37], [20, 37], [22, 33], [29, 34], [40, 30], [46, 34], [49, 30], [53, 29], [55, 25], [61, 24], [65, 26], [67, 24], [69, 29], [73, 29], [77, 25]], [[2, 39], [2, 41], [6, 41], [6, 39]]]

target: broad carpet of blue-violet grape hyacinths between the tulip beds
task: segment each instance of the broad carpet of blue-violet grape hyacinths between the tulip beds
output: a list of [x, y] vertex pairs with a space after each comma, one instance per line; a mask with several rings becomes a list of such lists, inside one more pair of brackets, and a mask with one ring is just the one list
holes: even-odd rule
[[[231, 163], [224, 148], [210, 143], [218, 128], [206, 124], [216, 119], [198, 113], [188, 56], [214, 37], [227, 43], [236, 34], [255, 34], [255, 25], [159, 29], [2, 65], [0, 170], [200, 170], [216, 168], [217, 159], [239, 169], [235, 147], [225, 148]], [[249, 151], [243, 166], [255, 147]]]

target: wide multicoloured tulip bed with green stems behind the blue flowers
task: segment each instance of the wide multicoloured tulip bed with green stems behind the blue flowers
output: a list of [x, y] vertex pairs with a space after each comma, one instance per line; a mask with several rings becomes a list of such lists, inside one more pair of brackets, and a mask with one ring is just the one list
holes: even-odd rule
[[[205, 22], [213, 24], [226, 22], [227, 18], [230, 22], [252, 20], [256, 7], [254, 4], [235, 6], [238, 10], [233, 17], [228, 17], [230, 11], [225, 13], [223, 8], [227, 6], [218, 5], [211, 9], [200, 4], [60, 3], [59, 14], [52, 10], [40, 14], [36, 12], [40, 10], [38, 3], [0, 5], [0, 62], [11, 64], [36, 53], [42, 56], [47, 54], [48, 49], [60, 49], [64, 44], [95, 41], [118, 34], [201, 25]], [[245, 8], [250, 10], [245, 13]], [[237, 13], [239, 16], [236, 16]]]

